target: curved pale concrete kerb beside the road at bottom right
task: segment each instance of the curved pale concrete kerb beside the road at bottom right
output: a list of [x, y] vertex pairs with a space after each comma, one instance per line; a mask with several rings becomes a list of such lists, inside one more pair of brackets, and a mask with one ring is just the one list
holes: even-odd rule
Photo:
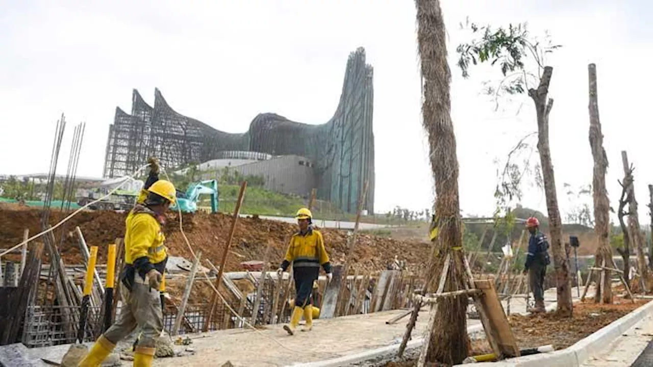
[[600, 353], [609, 347], [616, 338], [622, 335], [626, 330], [633, 327], [637, 321], [653, 314], [653, 302], [648, 302], [644, 306], [628, 313], [628, 315], [614, 321], [613, 323], [600, 328], [590, 336], [579, 340], [574, 345], [554, 351], [552, 353], [543, 353], [538, 355], [529, 355], [518, 357], [505, 362], [483, 362], [476, 363], [475, 366], [486, 364], [488, 366], [556, 366], [556, 367], [577, 367], [580, 366], [591, 355]]

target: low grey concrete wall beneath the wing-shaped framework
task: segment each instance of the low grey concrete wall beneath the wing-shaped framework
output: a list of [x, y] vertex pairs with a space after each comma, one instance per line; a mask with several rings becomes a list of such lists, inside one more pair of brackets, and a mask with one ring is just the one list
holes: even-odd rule
[[[310, 195], [315, 187], [313, 162], [299, 155], [283, 155], [268, 161], [258, 161], [231, 167], [242, 176], [263, 176], [265, 189], [300, 196]], [[213, 174], [215, 176], [215, 174]], [[204, 176], [204, 175], [202, 175]], [[204, 177], [205, 179], [215, 177]]]

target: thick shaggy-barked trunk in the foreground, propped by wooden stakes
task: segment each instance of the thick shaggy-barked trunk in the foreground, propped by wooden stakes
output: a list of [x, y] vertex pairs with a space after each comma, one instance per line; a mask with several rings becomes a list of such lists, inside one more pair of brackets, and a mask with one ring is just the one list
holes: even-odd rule
[[[417, 41], [422, 74], [422, 123], [428, 134], [430, 163], [436, 184], [436, 225], [432, 256], [426, 273], [426, 289], [435, 292], [447, 253], [451, 255], [444, 291], [464, 289], [464, 253], [458, 199], [458, 157], [451, 121], [445, 24], [439, 0], [415, 0]], [[438, 305], [427, 362], [459, 364], [469, 353], [466, 296], [447, 298]]]

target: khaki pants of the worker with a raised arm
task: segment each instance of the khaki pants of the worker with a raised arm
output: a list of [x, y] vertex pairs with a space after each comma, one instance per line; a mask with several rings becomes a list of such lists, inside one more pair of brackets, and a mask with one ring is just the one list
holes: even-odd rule
[[123, 300], [122, 308], [114, 325], [104, 332], [104, 338], [114, 344], [118, 343], [138, 326], [142, 331], [138, 347], [154, 348], [155, 341], [163, 330], [159, 290], [150, 288], [148, 276], [143, 280], [136, 272], [131, 292], [121, 281], [120, 294]]

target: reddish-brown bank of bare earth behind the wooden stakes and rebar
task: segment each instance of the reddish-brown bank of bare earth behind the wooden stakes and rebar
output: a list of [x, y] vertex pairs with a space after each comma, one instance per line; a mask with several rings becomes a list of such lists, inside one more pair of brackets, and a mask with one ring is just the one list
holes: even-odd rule
[[[40, 232], [40, 210], [13, 210], [0, 207], [0, 248], [7, 249], [22, 241], [23, 231], [29, 229], [31, 235]], [[52, 211], [50, 225], [56, 224], [67, 214]], [[79, 253], [78, 238], [74, 232], [79, 226], [89, 246], [99, 246], [99, 264], [106, 261], [106, 246], [115, 238], [125, 234], [126, 213], [108, 211], [84, 211], [75, 215], [67, 223], [54, 231], [56, 243], [65, 263], [82, 263]], [[202, 251], [202, 258], [218, 264], [226, 246], [231, 228], [231, 216], [225, 214], [183, 214], [183, 231], [194, 251]], [[263, 260], [268, 243], [271, 248], [270, 264], [276, 268], [287, 249], [290, 237], [296, 231], [296, 225], [280, 221], [270, 221], [259, 217], [238, 219], [231, 253], [227, 257], [226, 270], [243, 270], [242, 261]], [[342, 264], [347, 249], [347, 232], [336, 229], [320, 229], [325, 238], [327, 251], [332, 264]], [[191, 258], [179, 229], [178, 215], [168, 214], [164, 232], [166, 245], [171, 255]], [[419, 241], [400, 241], [359, 234], [353, 261], [361, 271], [383, 270], [394, 256], [406, 261], [409, 270], [418, 270], [426, 263], [429, 245]], [[13, 255], [18, 259], [17, 255]], [[11, 258], [10, 258], [11, 259]]]

